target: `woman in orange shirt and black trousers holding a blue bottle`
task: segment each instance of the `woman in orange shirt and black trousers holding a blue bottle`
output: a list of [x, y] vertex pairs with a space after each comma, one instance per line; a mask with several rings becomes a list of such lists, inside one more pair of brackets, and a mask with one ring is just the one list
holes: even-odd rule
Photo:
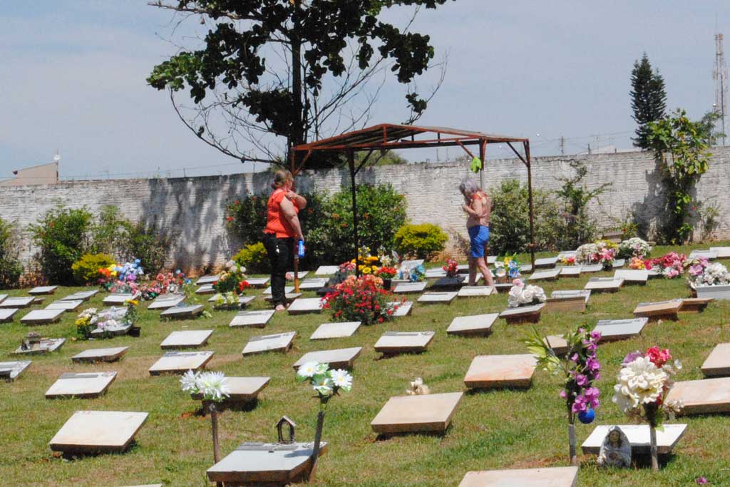
[[293, 183], [291, 172], [275, 172], [274, 192], [266, 204], [264, 248], [272, 267], [272, 303], [277, 311], [286, 309], [286, 272], [293, 267], [296, 241], [304, 240], [297, 213], [307, 206], [307, 199], [292, 191]]

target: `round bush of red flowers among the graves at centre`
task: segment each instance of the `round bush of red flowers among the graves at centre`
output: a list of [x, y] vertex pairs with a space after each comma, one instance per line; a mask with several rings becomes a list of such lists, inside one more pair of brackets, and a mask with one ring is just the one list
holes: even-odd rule
[[383, 280], [374, 275], [347, 279], [323, 298], [323, 308], [334, 312], [335, 321], [361, 321], [364, 325], [393, 319], [393, 307], [388, 307], [390, 292], [383, 289]]

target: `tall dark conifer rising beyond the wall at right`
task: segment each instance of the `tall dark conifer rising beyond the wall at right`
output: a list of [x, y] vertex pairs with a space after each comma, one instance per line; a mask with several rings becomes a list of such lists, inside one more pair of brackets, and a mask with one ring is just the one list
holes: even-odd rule
[[634, 147], [648, 149], [649, 122], [656, 122], [664, 118], [666, 111], [666, 92], [664, 78], [659, 70], [652, 71], [646, 53], [641, 61], [634, 61], [631, 70], [631, 110], [634, 110], [634, 120], [639, 125], [636, 129]]

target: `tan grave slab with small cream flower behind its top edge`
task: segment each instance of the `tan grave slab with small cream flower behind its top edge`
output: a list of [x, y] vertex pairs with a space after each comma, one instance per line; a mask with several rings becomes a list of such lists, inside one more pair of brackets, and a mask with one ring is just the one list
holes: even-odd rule
[[462, 392], [394, 396], [371, 421], [378, 434], [443, 433], [451, 423]]

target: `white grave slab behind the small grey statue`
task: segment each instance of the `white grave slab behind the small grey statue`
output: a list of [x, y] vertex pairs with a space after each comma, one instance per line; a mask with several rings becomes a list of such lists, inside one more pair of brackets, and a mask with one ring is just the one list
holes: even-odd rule
[[[608, 430], [613, 425], [600, 425], [593, 429], [590, 436], [583, 442], [581, 448], [586, 455], [598, 455]], [[648, 424], [619, 424], [631, 443], [632, 455], [649, 455], [649, 425]], [[658, 453], [664, 455], [672, 453], [672, 448], [682, 439], [687, 429], [686, 424], [664, 424], [664, 431], [656, 432], [656, 447]]]

